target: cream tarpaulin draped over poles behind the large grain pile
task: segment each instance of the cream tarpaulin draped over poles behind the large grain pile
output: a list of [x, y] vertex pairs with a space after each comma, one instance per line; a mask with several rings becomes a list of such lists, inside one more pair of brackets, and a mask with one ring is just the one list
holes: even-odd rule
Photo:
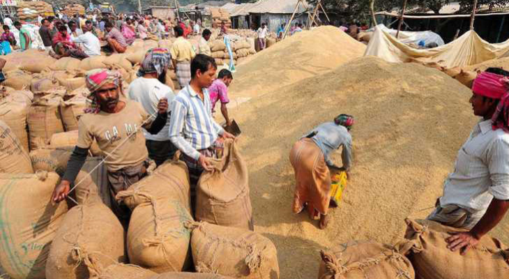
[[468, 31], [447, 45], [418, 50], [402, 43], [383, 29], [376, 28], [367, 45], [365, 55], [378, 56], [390, 62], [404, 62], [409, 58], [441, 61], [441, 65], [452, 68], [509, 56], [509, 40], [490, 44], [480, 38], [475, 31]]

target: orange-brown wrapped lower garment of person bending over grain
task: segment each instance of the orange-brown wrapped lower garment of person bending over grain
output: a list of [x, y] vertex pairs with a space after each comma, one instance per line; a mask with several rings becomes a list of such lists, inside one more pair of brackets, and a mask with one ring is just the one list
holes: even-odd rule
[[300, 213], [307, 203], [307, 210], [313, 216], [317, 212], [326, 215], [331, 200], [331, 174], [324, 154], [317, 144], [305, 138], [294, 144], [290, 163], [296, 180], [294, 213]]

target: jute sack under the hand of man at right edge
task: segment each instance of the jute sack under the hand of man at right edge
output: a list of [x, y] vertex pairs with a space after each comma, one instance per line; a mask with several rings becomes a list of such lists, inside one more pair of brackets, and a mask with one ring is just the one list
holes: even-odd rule
[[484, 236], [466, 255], [447, 248], [446, 227], [430, 220], [406, 220], [408, 228], [400, 251], [409, 259], [419, 279], [495, 279], [509, 275], [509, 250], [497, 239]]

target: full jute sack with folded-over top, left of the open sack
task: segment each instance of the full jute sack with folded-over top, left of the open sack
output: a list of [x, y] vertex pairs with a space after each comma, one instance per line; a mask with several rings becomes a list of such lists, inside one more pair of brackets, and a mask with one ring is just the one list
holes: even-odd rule
[[186, 165], [168, 161], [150, 176], [116, 195], [130, 207], [128, 255], [158, 273], [183, 271], [190, 265], [190, 186]]

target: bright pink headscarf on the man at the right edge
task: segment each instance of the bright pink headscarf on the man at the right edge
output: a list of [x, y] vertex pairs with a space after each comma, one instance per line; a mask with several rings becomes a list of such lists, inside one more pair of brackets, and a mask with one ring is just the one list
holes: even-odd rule
[[492, 116], [493, 130], [502, 129], [509, 133], [509, 77], [495, 73], [480, 73], [473, 81], [473, 93], [499, 100]]

